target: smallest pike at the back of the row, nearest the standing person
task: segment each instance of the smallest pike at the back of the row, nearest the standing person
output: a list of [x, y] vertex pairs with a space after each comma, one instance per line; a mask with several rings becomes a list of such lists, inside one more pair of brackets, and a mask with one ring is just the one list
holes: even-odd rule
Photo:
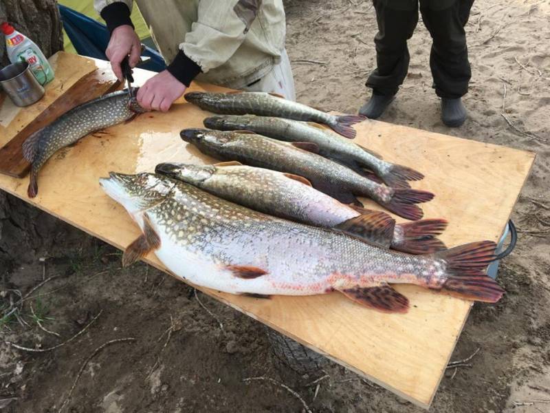
[[355, 138], [355, 129], [351, 125], [365, 120], [362, 115], [331, 115], [326, 112], [287, 100], [284, 96], [265, 92], [229, 92], [207, 93], [190, 92], [185, 95], [188, 102], [201, 109], [226, 115], [277, 116], [294, 120], [306, 120], [323, 123], [337, 134], [346, 138]]

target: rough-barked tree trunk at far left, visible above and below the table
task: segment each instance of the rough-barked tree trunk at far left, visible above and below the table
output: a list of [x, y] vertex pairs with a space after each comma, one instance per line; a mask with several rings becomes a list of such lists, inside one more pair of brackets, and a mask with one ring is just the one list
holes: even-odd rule
[[[56, 0], [0, 0], [2, 21], [29, 36], [47, 57], [63, 50]], [[0, 35], [0, 63], [10, 63], [3, 35]], [[34, 260], [34, 253], [52, 244], [54, 233], [62, 228], [65, 225], [56, 218], [0, 191], [0, 276], [10, 264]]]

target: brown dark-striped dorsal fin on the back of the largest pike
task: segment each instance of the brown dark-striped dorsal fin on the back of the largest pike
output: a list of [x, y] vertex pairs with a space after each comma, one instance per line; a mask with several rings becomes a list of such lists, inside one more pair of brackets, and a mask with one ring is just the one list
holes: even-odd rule
[[336, 229], [389, 248], [395, 220], [385, 212], [371, 211], [338, 224]]

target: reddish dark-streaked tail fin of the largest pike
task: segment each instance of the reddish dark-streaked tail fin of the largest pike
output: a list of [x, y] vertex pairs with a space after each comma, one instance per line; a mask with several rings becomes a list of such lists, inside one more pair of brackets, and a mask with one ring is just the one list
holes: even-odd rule
[[435, 254], [444, 260], [447, 278], [439, 289], [443, 293], [487, 303], [496, 303], [505, 290], [485, 274], [485, 268], [496, 259], [492, 241], [472, 242]]

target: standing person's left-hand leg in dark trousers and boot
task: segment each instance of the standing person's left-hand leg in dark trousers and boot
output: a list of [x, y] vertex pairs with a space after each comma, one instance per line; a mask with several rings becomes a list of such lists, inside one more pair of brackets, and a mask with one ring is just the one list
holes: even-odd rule
[[371, 119], [382, 115], [407, 75], [407, 40], [418, 23], [418, 0], [373, 0], [373, 4], [378, 23], [374, 38], [377, 67], [366, 81], [373, 95], [359, 110]]

